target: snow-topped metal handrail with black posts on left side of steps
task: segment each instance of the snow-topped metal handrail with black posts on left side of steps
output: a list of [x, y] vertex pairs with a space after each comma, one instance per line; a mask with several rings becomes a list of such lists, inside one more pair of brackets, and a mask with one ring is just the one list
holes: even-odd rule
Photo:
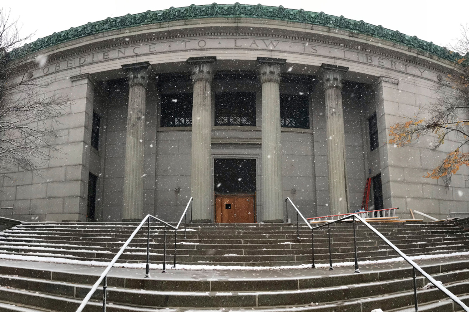
[[[175, 234], [174, 234], [174, 266], [176, 266], [176, 234], [177, 234], [177, 230], [178, 230], [179, 225], [181, 225], [182, 217], [186, 215], [187, 209], [189, 208], [189, 203], [192, 206], [192, 202], [193, 202], [193, 198], [190, 197], [189, 202], [187, 203], [186, 209], [184, 209], [184, 212], [182, 213], [181, 219], [179, 220], [179, 223], [177, 224], [177, 226], [170, 225], [169, 223], [167, 223], [167, 222], [165, 222], [165, 221], [163, 221], [163, 220], [161, 220], [157, 217], [154, 217], [152, 215], [146, 215], [146, 217], [143, 218], [142, 222], [140, 222], [140, 224], [136, 227], [134, 232], [132, 232], [132, 234], [130, 234], [130, 237], [126, 240], [124, 245], [122, 245], [121, 249], [119, 249], [117, 254], [114, 256], [113, 260], [111, 260], [111, 262], [109, 262], [106, 269], [99, 276], [98, 280], [93, 284], [93, 287], [91, 287], [91, 290], [88, 292], [86, 297], [83, 298], [83, 301], [80, 304], [80, 306], [78, 307], [78, 309], [76, 309], [76, 312], [82, 312], [83, 311], [83, 309], [86, 306], [86, 304], [88, 303], [88, 301], [90, 301], [91, 296], [93, 296], [94, 292], [98, 289], [99, 284], [101, 282], [103, 282], [103, 280], [104, 280], [104, 283], [103, 283], [103, 312], [106, 312], [107, 273], [109, 273], [109, 271], [111, 270], [111, 268], [113, 267], [113, 265], [115, 264], [117, 259], [119, 259], [121, 254], [124, 252], [125, 248], [127, 248], [127, 246], [129, 246], [130, 241], [135, 237], [136, 233], [142, 228], [142, 226], [145, 224], [145, 222], [147, 222], [147, 226], [148, 226], [148, 232], [147, 232], [147, 257], [146, 257], [145, 277], [150, 277], [150, 274], [149, 274], [149, 269], [150, 269], [150, 219], [153, 219], [153, 220], [158, 221], [159, 223], [162, 223], [163, 225], [165, 225], [165, 230], [164, 230], [165, 231], [165, 238], [164, 238], [164, 247], [163, 247], [163, 271], [162, 271], [163, 273], [166, 272], [166, 270], [165, 270], [165, 268], [166, 268], [166, 226], [174, 229], [174, 232], [175, 232]], [[191, 215], [192, 215], [192, 211], [191, 211]], [[191, 222], [192, 222], [192, 216], [191, 216]], [[184, 222], [184, 227], [185, 227], [185, 225], [186, 225], [186, 222]], [[184, 238], [186, 238], [185, 232], [186, 231], [184, 229]]]

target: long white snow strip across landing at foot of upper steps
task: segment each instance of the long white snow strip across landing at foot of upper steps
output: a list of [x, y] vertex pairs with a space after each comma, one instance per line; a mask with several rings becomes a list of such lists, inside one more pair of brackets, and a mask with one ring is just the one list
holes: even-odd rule
[[[469, 252], [456, 252], [450, 254], [422, 254], [419, 256], [409, 257], [411, 260], [424, 260], [424, 259], [439, 259], [447, 258], [453, 256], [464, 256], [469, 255]], [[29, 256], [29, 255], [19, 255], [19, 254], [0, 254], [0, 259], [8, 260], [22, 260], [22, 261], [36, 261], [36, 262], [49, 262], [49, 263], [65, 263], [65, 264], [80, 264], [80, 265], [89, 265], [97, 267], [106, 267], [109, 262], [102, 261], [82, 261], [74, 259], [64, 259], [64, 258], [55, 258], [55, 257], [38, 257], [38, 256]], [[358, 261], [359, 265], [364, 264], [377, 264], [377, 263], [390, 263], [390, 262], [403, 262], [405, 261], [402, 257], [383, 259], [376, 261]], [[171, 261], [169, 261], [171, 262]], [[171, 268], [170, 264], [167, 262], [166, 270], [270, 270], [270, 269], [295, 269], [295, 268], [311, 268], [311, 264], [300, 264], [300, 265], [291, 265], [291, 266], [277, 266], [277, 267], [242, 267], [242, 266], [222, 266], [222, 265], [194, 265], [194, 264], [177, 264], [176, 268]], [[329, 264], [326, 263], [316, 263], [317, 268], [328, 268]], [[355, 262], [337, 262], [334, 263], [334, 267], [346, 267], [354, 266]], [[141, 268], [144, 269], [146, 266], [145, 263], [115, 263], [114, 267], [117, 268]], [[163, 264], [150, 263], [151, 269], [162, 269]]]

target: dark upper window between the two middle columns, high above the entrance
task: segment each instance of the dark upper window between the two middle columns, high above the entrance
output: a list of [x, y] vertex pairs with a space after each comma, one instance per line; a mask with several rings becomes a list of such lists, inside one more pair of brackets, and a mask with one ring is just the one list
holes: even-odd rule
[[215, 94], [216, 126], [255, 126], [255, 92], [219, 92]]

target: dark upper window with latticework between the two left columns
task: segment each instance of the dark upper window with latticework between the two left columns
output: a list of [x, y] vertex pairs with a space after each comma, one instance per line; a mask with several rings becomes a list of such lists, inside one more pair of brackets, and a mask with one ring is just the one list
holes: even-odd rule
[[161, 127], [190, 127], [192, 125], [192, 93], [161, 96]]

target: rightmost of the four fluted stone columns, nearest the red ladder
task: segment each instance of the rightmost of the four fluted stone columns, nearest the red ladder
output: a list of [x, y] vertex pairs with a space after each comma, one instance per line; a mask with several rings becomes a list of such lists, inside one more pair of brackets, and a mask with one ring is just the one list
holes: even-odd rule
[[331, 214], [348, 212], [345, 163], [344, 113], [342, 110], [342, 76], [348, 67], [321, 65], [324, 82], [327, 168], [329, 171], [329, 205]]

